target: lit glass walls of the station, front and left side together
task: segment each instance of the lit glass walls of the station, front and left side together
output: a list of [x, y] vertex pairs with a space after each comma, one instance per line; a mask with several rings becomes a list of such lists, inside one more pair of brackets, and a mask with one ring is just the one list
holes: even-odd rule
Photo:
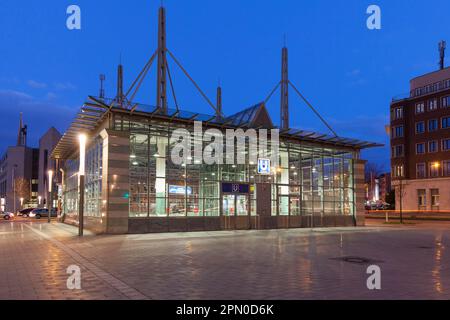
[[[248, 158], [252, 150], [247, 143], [245, 164], [207, 165], [193, 159], [188, 159], [191, 163], [174, 164], [171, 154], [179, 141], [171, 139], [172, 132], [179, 128], [193, 132], [192, 123], [176, 124], [148, 117], [130, 120], [118, 115], [110, 121], [112, 130], [129, 133], [129, 185], [125, 191], [131, 219], [252, 217], [258, 216], [258, 204], [262, 203], [271, 203], [274, 217], [355, 215], [353, 175], [358, 154], [351, 149], [281, 138], [278, 164], [272, 163], [269, 174], [263, 175], [258, 174], [257, 163]], [[202, 143], [203, 150], [210, 144]], [[105, 194], [107, 187], [102, 185], [103, 148], [98, 136], [86, 150], [87, 217], [102, 218], [102, 199], [109, 197]], [[235, 149], [236, 159], [238, 148]], [[270, 139], [267, 150], [263, 158], [271, 157]], [[63, 208], [65, 215], [74, 220], [78, 214], [78, 167], [76, 156], [65, 162]], [[266, 194], [260, 195], [265, 202], [258, 199], [260, 184], [269, 187], [265, 188]]]

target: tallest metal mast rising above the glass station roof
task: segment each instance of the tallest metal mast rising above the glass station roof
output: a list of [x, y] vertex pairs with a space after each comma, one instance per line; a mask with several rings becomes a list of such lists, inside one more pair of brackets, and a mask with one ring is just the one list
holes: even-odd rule
[[158, 75], [156, 83], [156, 106], [167, 114], [167, 60], [166, 60], [166, 9], [159, 8], [158, 17]]

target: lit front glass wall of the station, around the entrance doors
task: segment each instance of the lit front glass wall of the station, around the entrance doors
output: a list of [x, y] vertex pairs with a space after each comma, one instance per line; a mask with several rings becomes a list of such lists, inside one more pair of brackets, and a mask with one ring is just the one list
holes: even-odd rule
[[[173, 164], [173, 124], [116, 119], [115, 125], [130, 131], [130, 217], [256, 215], [257, 183], [271, 184], [274, 216], [354, 214], [352, 152], [281, 141], [278, 167], [259, 175], [249, 162]], [[223, 193], [223, 183], [246, 184], [249, 192]]]

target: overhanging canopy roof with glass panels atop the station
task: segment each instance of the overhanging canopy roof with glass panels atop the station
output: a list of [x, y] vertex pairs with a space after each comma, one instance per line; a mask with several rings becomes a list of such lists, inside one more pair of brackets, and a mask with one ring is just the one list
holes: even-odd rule
[[[56, 145], [52, 157], [55, 159], [65, 159], [70, 156], [78, 145], [78, 136], [82, 133], [93, 133], [103, 123], [109, 113], [140, 115], [151, 119], [161, 119], [162, 121], [202, 121], [205, 126], [218, 126], [223, 128], [276, 128], [264, 103], [258, 103], [229, 117], [217, 117], [215, 115], [177, 109], [168, 109], [167, 114], [162, 114], [158, 108], [143, 104], [135, 104], [130, 108], [123, 108], [117, 105], [114, 100], [89, 97], [89, 101], [80, 108], [74, 121]], [[374, 142], [337, 137], [294, 128], [280, 130], [280, 137], [353, 149], [383, 146]]]

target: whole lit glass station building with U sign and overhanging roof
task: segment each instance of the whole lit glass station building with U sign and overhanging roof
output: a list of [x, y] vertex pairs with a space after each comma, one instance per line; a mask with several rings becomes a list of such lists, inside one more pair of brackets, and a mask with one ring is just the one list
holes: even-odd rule
[[163, 114], [145, 105], [128, 109], [90, 97], [53, 151], [64, 160], [58, 161], [64, 163], [59, 195], [64, 221], [78, 223], [83, 132], [88, 135], [84, 223], [97, 233], [364, 224], [365, 162], [359, 155], [376, 144], [289, 129], [279, 131], [278, 165], [269, 174], [258, 173], [258, 164], [248, 160], [175, 165], [171, 134], [178, 128], [193, 132], [194, 121], [224, 134], [274, 128], [264, 103], [216, 117], [170, 109]]

